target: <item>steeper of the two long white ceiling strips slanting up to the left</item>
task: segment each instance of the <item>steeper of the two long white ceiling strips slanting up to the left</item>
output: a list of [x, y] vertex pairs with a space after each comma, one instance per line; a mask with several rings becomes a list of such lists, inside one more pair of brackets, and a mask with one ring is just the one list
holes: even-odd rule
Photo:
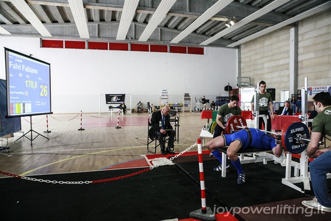
[[88, 23], [82, 0], [68, 0], [80, 38], [90, 38]]

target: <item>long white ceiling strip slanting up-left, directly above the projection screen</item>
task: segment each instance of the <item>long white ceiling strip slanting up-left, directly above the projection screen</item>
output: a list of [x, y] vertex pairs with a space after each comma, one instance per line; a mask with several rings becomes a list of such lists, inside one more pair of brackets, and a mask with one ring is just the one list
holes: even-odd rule
[[52, 35], [48, 32], [43, 23], [39, 20], [37, 15], [32, 11], [29, 5], [24, 0], [11, 0], [10, 1], [15, 8], [37, 29], [37, 31], [43, 37], [51, 37]]

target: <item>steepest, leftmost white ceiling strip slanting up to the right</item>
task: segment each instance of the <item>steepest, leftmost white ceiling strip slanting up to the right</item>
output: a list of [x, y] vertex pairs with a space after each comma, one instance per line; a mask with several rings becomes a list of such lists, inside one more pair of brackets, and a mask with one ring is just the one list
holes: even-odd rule
[[116, 40], [125, 40], [139, 0], [125, 0]]

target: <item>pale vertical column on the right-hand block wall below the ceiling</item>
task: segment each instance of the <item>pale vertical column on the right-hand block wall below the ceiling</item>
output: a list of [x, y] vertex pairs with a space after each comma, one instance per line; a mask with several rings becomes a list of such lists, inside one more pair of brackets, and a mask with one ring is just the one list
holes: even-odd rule
[[298, 89], [298, 27], [290, 29], [290, 96]]

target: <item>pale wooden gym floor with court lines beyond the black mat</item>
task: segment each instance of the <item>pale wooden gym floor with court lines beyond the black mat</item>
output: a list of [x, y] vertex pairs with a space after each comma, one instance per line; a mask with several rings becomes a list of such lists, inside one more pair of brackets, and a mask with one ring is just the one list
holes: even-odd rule
[[[119, 126], [121, 128], [116, 129], [118, 121], [117, 114], [110, 115], [108, 113], [102, 113], [99, 115], [98, 113], [83, 113], [81, 128], [85, 130], [78, 130], [80, 129], [80, 116], [78, 113], [52, 114], [48, 115], [48, 131], [50, 131], [50, 133], [44, 132], [47, 131], [46, 116], [33, 116], [32, 129], [48, 137], [49, 140], [42, 136], [36, 137], [37, 134], [33, 133], [35, 139], [32, 141], [31, 145], [31, 141], [26, 137], [17, 140], [22, 133], [15, 133], [14, 137], [8, 138], [10, 152], [2, 152], [0, 154], [0, 170], [19, 176], [32, 177], [35, 175], [69, 174], [97, 170], [114, 170], [114, 173], [116, 171], [118, 175], [121, 174], [119, 173], [119, 171], [121, 171], [119, 169], [141, 168], [143, 170], [151, 166], [152, 163], [158, 163], [158, 161], [152, 160], [162, 157], [159, 155], [159, 149], [157, 150], [157, 155], [152, 155], [147, 152], [147, 120], [150, 116], [151, 115], [147, 113], [121, 115], [119, 120]], [[30, 117], [22, 117], [21, 122], [22, 131], [29, 131]], [[207, 120], [202, 120], [200, 113], [180, 113], [179, 142], [177, 143], [177, 141], [175, 141], [175, 152], [182, 152], [194, 145], [199, 137], [201, 128], [206, 125], [206, 123]], [[30, 137], [31, 133], [26, 136]], [[6, 139], [4, 140], [6, 141]], [[7, 143], [2, 142], [1, 145], [6, 146]], [[195, 155], [196, 151], [197, 146], [194, 146], [189, 153]], [[190, 155], [189, 153], [185, 154]], [[205, 155], [205, 158], [206, 157], [208, 160], [209, 157], [207, 154]], [[158, 168], [154, 169], [157, 170]], [[140, 169], [137, 169], [136, 171], [139, 170]], [[124, 170], [123, 175], [126, 175]], [[5, 177], [7, 178], [8, 176], [0, 174], [0, 178]], [[130, 185], [130, 181], [125, 181], [125, 178], [122, 179], [121, 182], [126, 182], [126, 185]], [[280, 185], [281, 188], [289, 188], [283, 185], [281, 181], [278, 185]], [[0, 189], [4, 190], [4, 188], [4, 186], [0, 186]], [[199, 194], [199, 186], [197, 186], [197, 190]], [[302, 197], [304, 197], [304, 195], [302, 195]], [[312, 197], [306, 197], [303, 199], [311, 198]], [[290, 200], [290, 205], [299, 207], [301, 200], [302, 199]], [[288, 202], [282, 202], [282, 205], [287, 203]], [[271, 204], [277, 205], [278, 202]], [[269, 203], [267, 205], [271, 204]], [[214, 205], [208, 206], [213, 207]], [[262, 204], [261, 206], [266, 205]], [[188, 218], [189, 215], [186, 214], [187, 212], [181, 217]], [[328, 218], [326, 218], [328, 216], [320, 214], [315, 216], [307, 216], [305, 214], [292, 216], [284, 214], [260, 214], [258, 216], [259, 218], [255, 214], [248, 212], [242, 212], [241, 214], [239, 213], [239, 215], [240, 217], [238, 219], [232, 217], [233, 219], [227, 220], [273, 220], [273, 218], [275, 218], [275, 220], [328, 220]], [[304, 217], [304, 219], [302, 219], [302, 217]], [[168, 217], [164, 217], [164, 219], [166, 218]], [[171, 220], [176, 220], [176, 217], [173, 218], [174, 219]], [[132, 217], [132, 220], [133, 219]], [[114, 217], [114, 219], [109, 220], [117, 219]], [[145, 217], [142, 219], [135, 218], [134, 220], [154, 219]]]

